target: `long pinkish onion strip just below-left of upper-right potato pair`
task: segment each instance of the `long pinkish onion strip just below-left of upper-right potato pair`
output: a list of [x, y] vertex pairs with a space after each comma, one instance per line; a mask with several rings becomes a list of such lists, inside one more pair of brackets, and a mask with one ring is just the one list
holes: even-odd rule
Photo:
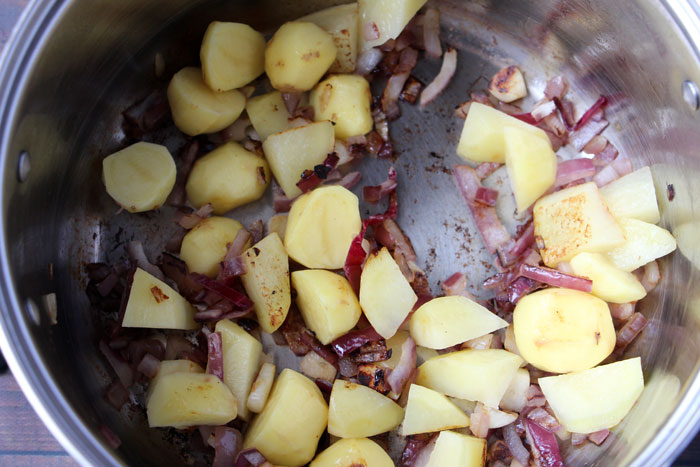
[[476, 192], [481, 186], [474, 169], [467, 165], [457, 165], [454, 168], [454, 176], [462, 197], [467, 201], [486, 249], [489, 253], [495, 253], [498, 248], [511, 241], [510, 234], [498, 219], [494, 208], [479, 205], [474, 201]]

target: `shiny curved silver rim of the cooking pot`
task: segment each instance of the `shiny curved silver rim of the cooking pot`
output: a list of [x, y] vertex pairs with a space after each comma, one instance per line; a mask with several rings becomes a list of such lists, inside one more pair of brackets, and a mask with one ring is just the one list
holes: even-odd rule
[[[65, 13], [70, 0], [30, 0], [20, 15], [0, 54], [0, 166], [8, 167], [12, 117], [18, 106], [17, 89], [25, 84], [42, 43]], [[700, 4], [662, 0], [663, 8], [675, 22], [700, 63]], [[0, 232], [5, 231], [0, 217]], [[12, 374], [34, 411], [61, 446], [83, 466], [124, 465], [101, 436], [95, 436], [61, 394], [31, 345], [30, 320], [26, 304], [20, 303], [9, 264], [8, 245], [0, 236], [0, 350]], [[21, 311], [20, 311], [21, 310]], [[700, 430], [700, 365], [678, 405], [631, 465], [669, 464]]]

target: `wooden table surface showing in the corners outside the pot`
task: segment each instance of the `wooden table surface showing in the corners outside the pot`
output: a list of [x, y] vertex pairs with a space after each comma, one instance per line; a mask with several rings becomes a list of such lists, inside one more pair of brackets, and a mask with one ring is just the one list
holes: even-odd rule
[[[118, 1], [118, 0], [115, 0]], [[28, 0], [0, 0], [0, 50]], [[0, 466], [76, 465], [41, 423], [8, 372], [0, 375]], [[675, 466], [700, 466], [700, 436]]]

